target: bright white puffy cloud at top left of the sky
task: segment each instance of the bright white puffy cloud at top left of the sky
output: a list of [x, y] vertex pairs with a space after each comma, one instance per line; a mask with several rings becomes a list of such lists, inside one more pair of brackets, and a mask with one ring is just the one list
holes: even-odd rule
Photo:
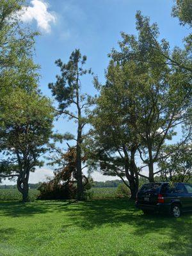
[[44, 0], [32, 0], [31, 5], [23, 8], [21, 20], [24, 22], [36, 20], [38, 28], [50, 33], [51, 23], [56, 22], [56, 15], [48, 12], [49, 4]]

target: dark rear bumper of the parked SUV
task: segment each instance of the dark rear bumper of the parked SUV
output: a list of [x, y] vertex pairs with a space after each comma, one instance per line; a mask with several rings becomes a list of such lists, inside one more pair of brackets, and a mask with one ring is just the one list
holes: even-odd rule
[[170, 212], [171, 204], [141, 204], [140, 202], [135, 203], [136, 207], [141, 210], [157, 211], [157, 212]]

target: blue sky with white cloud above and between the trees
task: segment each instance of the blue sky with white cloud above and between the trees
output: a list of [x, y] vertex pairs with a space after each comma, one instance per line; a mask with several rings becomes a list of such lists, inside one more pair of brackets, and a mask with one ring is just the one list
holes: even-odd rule
[[[189, 34], [187, 28], [179, 26], [179, 21], [171, 17], [172, 0], [32, 0], [22, 17], [33, 29], [41, 31], [36, 40], [35, 61], [40, 64], [40, 89], [51, 97], [47, 84], [55, 81], [59, 70], [54, 61], [61, 58], [68, 61], [70, 53], [79, 48], [88, 58], [87, 67], [92, 70], [101, 82], [104, 81], [104, 70], [108, 66], [108, 53], [118, 47], [120, 32], [136, 34], [135, 14], [141, 10], [150, 17], [151, 22], [159, 26], [159, 38], [166, 38], [170, 45], [182, 46], [182, 38]], [[92, 77], [84, 80], [85, 92], [95, 93]], [[76, 131], [76, 127], [67, 120], [56, 122], [60, 132]], [[42, 180], [42, 175], [32, 176], [31, 182]], [[96, 180], [103, 178], [93, 175]]]

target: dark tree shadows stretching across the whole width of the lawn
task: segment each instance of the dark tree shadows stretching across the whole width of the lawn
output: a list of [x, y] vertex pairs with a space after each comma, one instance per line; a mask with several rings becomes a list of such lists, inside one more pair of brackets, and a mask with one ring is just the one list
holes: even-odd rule
[[[64, 214], [61, 232], [65, 232], [70, 228], [70, 225], [72, 227], [76, 225], [84, 230], [92, 230], [93, 228], [100, 228], [102, 225], [116, 228], [127, 223], [133, 227], [131, 229], [127, 228], [127, 232], [135, 236], [136, 239], [147, 235], [154, 236], [154, 241], [155, 237], [158, 236], [168, 237], [168, 239], [162, 241], [161, 248], [159, 245], [159, 248], [168, 255], [192, 255], [191, 214], [183, 214], [179, 219], [159, 214], [145, 216], [129, 200], [93, 200], [79, 203], [70, 201], [44, 201], [29, 204], [19, 202], [0, 203], [0, 218], [1, 216], [34, 216], [35, 218], [35, 214], [47, 212], [62, 212]], [[65, 216], [71, 219], [71, 223], [65, 224]], [[8, 230], [2, 229], [2, 234], [3, 232], [6, 236]], [[10, 232], [14, 232], [14, 230], [10, 230]], [[129, 250], [121, 252], [118, 256], [124, 255], [138, 256], [137, 252]]]

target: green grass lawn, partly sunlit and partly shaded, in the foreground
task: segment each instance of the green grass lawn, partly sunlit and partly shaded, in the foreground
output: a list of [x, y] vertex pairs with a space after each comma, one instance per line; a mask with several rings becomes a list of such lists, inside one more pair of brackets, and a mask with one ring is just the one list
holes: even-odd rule
[[191, 256], [192, 214], [144, 216], [128, 200], [0, 202], [1, 256]]

